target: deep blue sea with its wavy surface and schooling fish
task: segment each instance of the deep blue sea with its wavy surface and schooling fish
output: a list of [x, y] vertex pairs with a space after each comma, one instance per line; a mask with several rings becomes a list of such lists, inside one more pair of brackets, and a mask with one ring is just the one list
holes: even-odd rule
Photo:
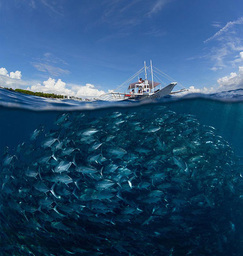
[[242, 92], [102, 103], [0, 89], [0, 254], [242, 255]]

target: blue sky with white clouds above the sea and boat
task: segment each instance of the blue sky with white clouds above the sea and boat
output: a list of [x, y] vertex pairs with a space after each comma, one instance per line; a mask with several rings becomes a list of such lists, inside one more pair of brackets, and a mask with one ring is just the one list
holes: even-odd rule
[[0, 0], [0, 86], [99, 96], [152, 60], [194, 92], [243, 88], [242, 10], [242, 0]]

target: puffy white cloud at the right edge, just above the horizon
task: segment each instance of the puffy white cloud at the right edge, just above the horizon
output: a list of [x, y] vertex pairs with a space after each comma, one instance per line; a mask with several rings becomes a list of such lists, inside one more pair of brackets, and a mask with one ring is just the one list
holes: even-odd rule
[[230, 76], [224, 76], [217, 80], [221, 90], [231, 90], [243, 86], [243, 67], [239, 67], [239, 73], [232, 72]]

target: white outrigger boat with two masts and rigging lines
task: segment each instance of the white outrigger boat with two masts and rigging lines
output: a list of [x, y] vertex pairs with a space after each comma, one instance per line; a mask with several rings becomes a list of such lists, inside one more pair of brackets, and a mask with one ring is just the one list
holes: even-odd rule
[[[183, 88], [182, 84], [179, 84], [173, 78], [170, 76], [167, 76], [165, 73], [160, 71], [159, 69], [156, 69], [152, 66], [152, 61], [150, 61], [150, 66], [146, 66], [146, 62], [144, 61], [144, 67], [141, 68], [137, 73], [135, 73], [133, 76], [131, 76], [128, 80], [126, 80], [123, 84], [118, 86], [113, 92], [108, 92], [105, 94], [102, 94], [98, 98], [94, 98], [95, 100], [101, 100], [101, 101], [121, 101], [121, 100], [144, 100], [144, 99], [160, 99], [165, 96], [169, 96], [172, 94], [176, 94], [179, 92], [185, 92], [188, 89]], [[138, 76], [140, 73], [145, 72], [145, 79], [144, 83], [140, 84], [138, 81], [131, 83], [134, 78]], [[151, 74], [152, 80], [147, 79], [147, 72]], [[170, 80], [171, 83], [166, 85], [163, 80], [159, 78], [159, 76], [163, 76], [167, 80]], [[160, 80], [163, 84], [166, 86], [161, 88], [161, 82], [154, 81], [154, 76], [156, 79]], [[179, 85], [182, 87], [181, 90], [172, 92], [173, 88], [176, 85]], [[159, 86], [160, 85], [160, 86]], [[128, 87], [127, 87], [128, 86]], [[142, 87], [142, 89], [141, 89]], [[126, 88], [124, 92], [117, 92], [118, 89]], [[140, 88], [140, 89], [139, 89]]]

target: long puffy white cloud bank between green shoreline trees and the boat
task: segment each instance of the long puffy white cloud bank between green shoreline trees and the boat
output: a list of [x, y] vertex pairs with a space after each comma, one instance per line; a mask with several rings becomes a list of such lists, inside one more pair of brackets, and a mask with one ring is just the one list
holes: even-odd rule
[[42, 84], [32, 85], [28, 87], [27, 90], [33, 92], [44, 92], [44, 93], [55, 93], [61, 95], [69, 95], [75, 97], [95, 97], [104, 94], [102, 90], [95, 88], [93, 84], [86, 84], [85, 86], [71, 85], [71, 88], [67, 88], [67, 84], [61, 79], [58, 79], [57, 82], [55, 79], [49, 77], [48, 80]]

